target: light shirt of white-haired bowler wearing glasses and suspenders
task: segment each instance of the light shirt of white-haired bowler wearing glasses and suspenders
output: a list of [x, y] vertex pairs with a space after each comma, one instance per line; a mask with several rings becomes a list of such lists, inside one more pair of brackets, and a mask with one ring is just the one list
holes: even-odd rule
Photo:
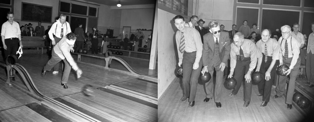
[[[285, 45], [285, 39], [282, 38], [282, 36], [279, 38], [278, 42], [280, 45], [280, 53], [279, 54], [279, 62], [282, 63], [283, 60], [282, 58], [284, 57], [284, 45]], [[294, 65], [296, 64], [296, 62], [298, 61], [299, 58], [299, 54], [300, 54], [300, 43], [296, 40], [295, 37], [293, 36], [289, 36], [287, 39], [287, 43], [288, 43], [288, 58], [292, 57], [291, 63], [290, 63], [290, 69], [293, 69]], [[292, 47], [292, 49], [291, 49]]]

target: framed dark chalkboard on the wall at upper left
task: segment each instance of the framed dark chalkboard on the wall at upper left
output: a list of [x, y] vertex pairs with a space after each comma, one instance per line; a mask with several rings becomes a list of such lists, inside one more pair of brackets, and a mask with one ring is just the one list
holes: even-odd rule
[[51, 23], [52, 7], [22, 2], [22, 21]]

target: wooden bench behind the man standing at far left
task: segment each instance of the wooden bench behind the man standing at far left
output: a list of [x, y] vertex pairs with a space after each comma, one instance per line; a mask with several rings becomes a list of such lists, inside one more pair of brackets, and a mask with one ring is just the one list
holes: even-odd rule
[[43, 41], [41, 36], [22, 36], [23, 48], [37, 48], [37, 53], [39, 53], [39, 48], [41, 48], [41, 54], [45, 46], [45, 41]]

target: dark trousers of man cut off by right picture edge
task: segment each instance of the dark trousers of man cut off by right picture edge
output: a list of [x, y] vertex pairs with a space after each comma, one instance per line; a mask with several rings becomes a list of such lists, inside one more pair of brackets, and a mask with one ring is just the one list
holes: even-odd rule
[[314, 54], [311, 51], [306, 54], [305, 66], [306, 80], [314, 85]]

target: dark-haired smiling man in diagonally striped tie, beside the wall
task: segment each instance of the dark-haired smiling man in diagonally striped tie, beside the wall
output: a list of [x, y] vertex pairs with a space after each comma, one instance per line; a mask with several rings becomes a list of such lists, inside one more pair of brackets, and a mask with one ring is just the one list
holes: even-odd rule
[[183, 69], [183, 97], [180, 99], [180, 102], [184, 102], [188, 98], [189, 107], [192, 107], [195, 104], [198, 77], [203, 65], [203, 44], [198, 30], [192, 27], [185, 27], [185, 21], [181, 15], [176, 15], [173, 20], [178, 29], [176, 32], [178, 65], [181, 66], [182, 64]]

